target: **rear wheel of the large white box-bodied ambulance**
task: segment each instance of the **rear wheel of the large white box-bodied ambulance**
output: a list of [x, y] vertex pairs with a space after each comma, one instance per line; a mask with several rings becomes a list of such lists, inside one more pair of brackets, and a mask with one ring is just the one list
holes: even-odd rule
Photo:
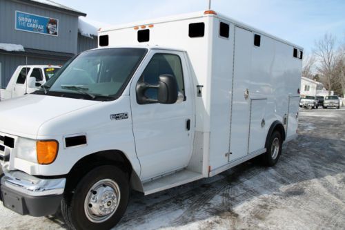
[[262, 163], [266, 166], [274, 166], [277, 164], [280, 155], [282, 155], [282, 135], [278, 131], [274, 131], [266, 145], [266, 153], [262, 155]]

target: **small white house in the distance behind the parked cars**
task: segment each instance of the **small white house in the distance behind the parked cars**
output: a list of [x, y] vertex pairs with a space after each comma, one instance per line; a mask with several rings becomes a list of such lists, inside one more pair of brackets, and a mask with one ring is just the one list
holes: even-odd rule
[[333, 91], [331, 93], [324, 88], [321, 82], [314, 81], [312, 79], [302, 77], [301, 80], [301, 97], [306, 96], [327, 96], [333, 95]]

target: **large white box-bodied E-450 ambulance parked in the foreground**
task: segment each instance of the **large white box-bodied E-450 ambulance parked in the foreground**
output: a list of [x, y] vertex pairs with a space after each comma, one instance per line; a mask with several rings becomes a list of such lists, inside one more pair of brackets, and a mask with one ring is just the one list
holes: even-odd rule
[[[99, 32], [39, 90], [0, 103], [3, 205], [110, 229], [145, 195], [297, 136], [302, 48], [212, 10]], [[133, 217], [135, 218], [135, 217]]]

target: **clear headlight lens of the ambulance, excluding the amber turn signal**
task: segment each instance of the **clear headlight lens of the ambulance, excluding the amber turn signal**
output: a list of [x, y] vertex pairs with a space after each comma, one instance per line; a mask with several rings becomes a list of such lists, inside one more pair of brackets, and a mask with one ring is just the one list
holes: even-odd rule
[[16, 146], [18, 158], [37, 163], [36, 140], [19, 137]]

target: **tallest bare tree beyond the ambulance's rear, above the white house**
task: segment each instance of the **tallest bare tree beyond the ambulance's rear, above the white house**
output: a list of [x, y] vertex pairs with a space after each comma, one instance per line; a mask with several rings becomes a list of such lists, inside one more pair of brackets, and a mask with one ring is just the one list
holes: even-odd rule
[[333, 72], [335, 68], [335, 37], [326, 33], [324, 37], [315, 41], [315, 49], [313, 50], [317, 59], [317, 70], [322, 75], [322, 82], [327, 90], [333, 90]]

